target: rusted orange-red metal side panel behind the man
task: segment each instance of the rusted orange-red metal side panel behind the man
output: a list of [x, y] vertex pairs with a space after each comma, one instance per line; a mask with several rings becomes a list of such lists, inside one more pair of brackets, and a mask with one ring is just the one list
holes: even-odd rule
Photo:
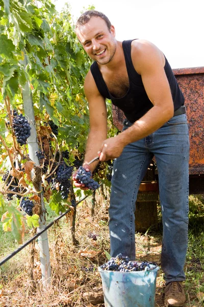
[[[174, 69], [185, 97], [190, 136], [189, 173], [204, 174], [204, 67]], [[113, 106], [113, 123], [121, 130], [124, 114]]]

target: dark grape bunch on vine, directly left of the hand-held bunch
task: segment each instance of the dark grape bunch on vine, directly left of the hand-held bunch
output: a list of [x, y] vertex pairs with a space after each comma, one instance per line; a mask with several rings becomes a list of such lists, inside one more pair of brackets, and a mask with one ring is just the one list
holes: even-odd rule
[[60, 164], [56, 170], [56, 181], [59, 182], [59, 187], [63, 200], [68, 198], [69, 189], [71, 186], [70, 177], [72, 174], [72, 170], [73, 167], [66, 165], [65, 162], [62, 162], [62, 164]]

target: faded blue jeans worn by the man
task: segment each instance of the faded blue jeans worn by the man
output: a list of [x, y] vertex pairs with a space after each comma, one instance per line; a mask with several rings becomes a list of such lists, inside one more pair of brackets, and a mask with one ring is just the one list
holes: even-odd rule
[[[132, 124], [124, 122], [123, 130]], [[186, 114], [172, 117], [115, 159], [110, 199], [111, 255], [135, 260], [135, 203], [147, 167], [156, 158], [163, 221], [161, 267], [166, 283], [185, 280], [188, 245], [189, 135]], [[136, 212], [137, 214], [137, 212]]]

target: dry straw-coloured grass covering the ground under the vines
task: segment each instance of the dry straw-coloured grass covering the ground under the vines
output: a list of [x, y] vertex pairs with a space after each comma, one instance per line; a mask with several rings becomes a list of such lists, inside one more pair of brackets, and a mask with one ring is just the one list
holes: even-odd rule
[[[97, 240], [88, 237], [95, 233]], [[98, 265], [107, 258], [105, 250], [109, 252], [108, 203], [97, 194], [95, 215], [91, 216], [91, 202], [84, 201], [77, 208], [76, 238], [79, 246], [71, 244], [70, 223], [65, 217], [58, 225], [48, 230], [50, 265], [52, 280], [48, 289], [41, 284], [41, 270], [38, 245], [35, 245], [34, 280], [30, 278], [30, 247], [25, 248], [13, 257], [2, 270], [0, 283], [1, 307], [45, 307], [45, 306], [92, 306], [86, 301], [84, 293], [101, 287], [101, 279], [97, 272]], [[136, 259], [156, 261], [160, 265], [162, 232], [136, 234]], [[86, 249], [97, 254], [93, 257], [82, 256], [79, 252]], [[5, 252], [7, 254], [8, 252]], [[195, 261], [194, 261], [195, 262]], [[195, 265], [195, 263], [194, 263]], [[93, 272], [82, 270], [83, 267], [94, 266]], [[190, 266], [190, 264], [189, 264]], [[192, 266], [192, 262], [191, 262]], [[187, 265], [188, 267], [188, 265]], [[188, 269], [188, 268], [187, 268]], [[187, 302], [185, 307], [200, 307], [201, 303], [196, 292], [191, 289], [197, 287], [197, 281], [191, 281], [191, 288], [186, 286]], [[163, 273], [158, 272], [156, 307], [163, 306]], [[104, 304], [100, 305], [101, 307]], [[99, 305], [98, 305], [99, 307]]]

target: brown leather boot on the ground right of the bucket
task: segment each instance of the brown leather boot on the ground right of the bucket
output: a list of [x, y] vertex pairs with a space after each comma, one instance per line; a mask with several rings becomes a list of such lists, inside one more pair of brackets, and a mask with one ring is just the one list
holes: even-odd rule
[[186, 301], [184, 288], [181, 281], [171, 281], [167, 283], [164, 290], [164, 303], [167, 306], [181, 307]]

